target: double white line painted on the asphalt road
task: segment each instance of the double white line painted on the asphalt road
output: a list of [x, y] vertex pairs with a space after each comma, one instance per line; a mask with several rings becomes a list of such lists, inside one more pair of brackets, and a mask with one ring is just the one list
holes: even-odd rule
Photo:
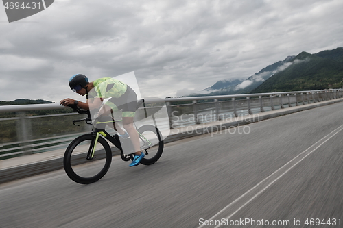
[[[316, 144], [319, 144], [322, 140], [324, 140], [325, 138], [327, 138], [328, 136], [330, 136], [330, 134], [333, 134], [333, 132], [335, 132], [335, 134], [333, 134], [332, 136], [330, 136], [329, 138], [327, 138], [327, 140], [324, 140], [324, 142], [320, 143], [318, 145], [318, 147], [316, 147], [315, 149], [313, 149], [312, 151], [310, 151], [307, 155], [305, 155], [305, 157], [307, 157], [308, 155], [310, 155], [311, 153], [313, 153], [314, 151], [316, 151], [316, 149], [318, 149], [320, 146], [322, 146], [322, 144], [324, 144], [325, 142], [327, 142], [329, 139], [331, 139], [333, 136], [335, 136], [336, 134], [338, 134], [338, 132], [342, 131], [343, 125], [340, 125], [340, 127], [336, 128], [335, 130], [331, 131], [329, 134], [327, 134], [327, 136], [324, 136], [323, 138], [321, 138], [318, 142], [316, 142], [315, 144], [311, 145], [311, 147], [315, 147]], [[239, 199], [243, 198], [246, 196], [246, 194], [248, 194], [249, 192], [251, 192], [252, 190], [254, 190], [255, 188], [257, 188], [261, 183], [263, 183], [264, 181], [266, 181], [267, 179], [269, 179], [272, 175], [274, 175], [275, 173], [277, 173], [279, 170], [281, 170], [282, 168], [284, 168], [285, 166], [287, 166], [287, 164], [293, 162], [294, 160], [296, 160], [296, 158], [298, 158], [300, 155], [303, 155], [304, 153], [306, 153], [307, 151], [309, 151], [309, 149], [311, 149], [311, 147], [307, 148], [305, 151], [303, 151], [302, 153], [298, 154], [296, 157], [294, 157], [292, 160], [290, 160], [289, 162], [287, 162], [285, 165], [283, 165], [281, 168], [279, 168], [278, 170], [276, 170], [274, 173], [272, 173], [271, 175], [269, 175], [268, 177], [266, 177], [265, 179], [263, 179], [262, 181], [260, 181], [259, 183], [257, 183], [256, 186], [252, 187], [250, 190], [248, 190], [248, 192], [244, 193], [241, 195], [241, 197], [237, 198], [235, 201], [233, 201], [232, 203], [230, 203], [229, 205], [227, 205], [226, 207], [224, 207], [222, 210], [220, 210], [219, 212], [217, 212], [217, 214], [215, 214], [214, 216], [212, 216], [211, 218], [209, 218], [209, 220], [213, 220], [216, 216], [218, 216], [219, 214], [221, 214], [222, 212], [224, 212], [224, 210], [227, 210], [231, 205], [233, 205], [234, 203], [236, 203], [237, 201], [239, 201]], [[281, 177], [283, 177], [283, 175], [285, 175], [286, 173], [288, 173], [289, 170], [291, 170], [292, 168], [294, 168], [294, 166], [296, 166], [298, 163], [300, 163], [301, 161], [303, 161], [305, 159], [305, 157], [303, 157], [302, 159], [300, 159], [298, 162], [296, 162], [296, 164], [294, 164], [293, 166], [291, 166], [290, 168], [288, 168], [284, 173], [282, 173], [279, 177], [277, 177], [276, 179], [274, 179], [274, 181], [272, 181], [272, 183], [268, 184], [268, 186], [266, 186], [265, 188], [263, 188], [263, 190], [257, 192], [257, 194], [255, 194], [254, 197], [252, 197], [250, 200], [248, 200], [246, 203], [244, 203], [244, 205], [242, 205], [241, 207], [239, 207], [238, 210], [236, 210], [235, 212], [233, 212], [233, 214], [230, 214], [230, 216], [226, 217], [226, 220], [230, 219], [233, 215], [235, 215], [237, 212], [239, 212], [239, 210], [241, 210], [241, 208], [243, 208], [244, 206], [246, 206], [248, 203], [250, 203], [253, 199], [255, 199], [257, 196], [259, 196], [259, 194], [261, 194], [262, 192], [264, 192], [267, 188], [269, 188], [275, 181], [279, 180]], [[220, 227], [221, 225], [217, 225], [215, 228]], [[204, 225], [200, 225], [198, 228], [204, 227]]]

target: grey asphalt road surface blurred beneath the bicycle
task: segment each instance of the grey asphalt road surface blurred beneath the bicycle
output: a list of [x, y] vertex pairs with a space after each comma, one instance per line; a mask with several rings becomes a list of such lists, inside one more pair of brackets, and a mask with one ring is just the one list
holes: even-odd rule
[[0, 227], [342, 227], [342, 110], [171, 142], [152, 166], [113, 157], [87, 186], [64, 170], [2, 184]]

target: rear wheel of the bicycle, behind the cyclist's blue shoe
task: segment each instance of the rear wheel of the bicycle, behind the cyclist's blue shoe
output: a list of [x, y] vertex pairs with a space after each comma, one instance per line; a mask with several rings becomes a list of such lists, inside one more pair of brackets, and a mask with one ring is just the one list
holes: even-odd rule
[[157, 162], [163, 152], [163, 137], [161, 132], [152, 125], [143, 125], [139, 127], [139, 144], [145, 157], [141, 164], [150, 165]]

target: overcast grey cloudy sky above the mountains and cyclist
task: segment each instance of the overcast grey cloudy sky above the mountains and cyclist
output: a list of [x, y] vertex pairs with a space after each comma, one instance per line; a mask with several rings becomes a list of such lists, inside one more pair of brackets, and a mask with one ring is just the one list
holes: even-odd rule
[[343, 47], [342, 0], [56, 0], [8, 23], [0, 5], [0, 101], [81, 99], [69, 78], [134, 71], [143, 97], [246, 79], [301, 51]]

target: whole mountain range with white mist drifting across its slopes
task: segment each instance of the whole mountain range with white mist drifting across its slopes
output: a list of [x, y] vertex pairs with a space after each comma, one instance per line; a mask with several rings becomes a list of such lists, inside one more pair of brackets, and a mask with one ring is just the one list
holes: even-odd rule
[[342, 88], [342, 79], [343, 47], [316, 54], [303, 51], [263, 68], [246, 80], [217, 81], [191, 96]]

